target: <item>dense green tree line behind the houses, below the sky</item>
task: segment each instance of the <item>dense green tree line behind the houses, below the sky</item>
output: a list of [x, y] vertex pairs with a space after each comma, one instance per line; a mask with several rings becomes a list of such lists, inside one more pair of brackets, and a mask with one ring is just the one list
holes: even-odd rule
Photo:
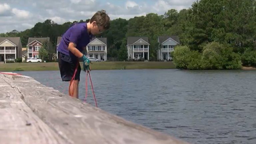
[[[190, 8], [179, 12], [170, 9], [163, 15], [148, 13], [129, 20], [113, 19], [110, 29], [97, 37], [107, 37], [108, 56], [119, 60], [127, 58], [126, 44], [129, 36], [149, 38], [149, 58], [153, 61], [157, 60], [157, 37], [161, 35], [178, 35], [182, 46], [200, 54], [204, 47], [216, 42], [241, 56], [253, 53], [256, 49], [255, 6], [256, 0], [197, 0]], [[73, 23], [88, 21], [89, 19], [57, 24], [46, 20], [36, 23], [31, 29], [20, 32], [13, 30], [0, 36], [19, 36], [23, 46], [27, 44], [28, 37], [50, 37], [55, 46], [57, 37]]]

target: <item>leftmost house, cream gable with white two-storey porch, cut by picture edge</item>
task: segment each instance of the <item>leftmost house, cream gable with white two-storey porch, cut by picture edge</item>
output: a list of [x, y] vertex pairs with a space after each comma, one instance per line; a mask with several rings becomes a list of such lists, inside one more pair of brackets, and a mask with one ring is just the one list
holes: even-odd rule
[[14, 61], [21, 57], [20, 37], [0, 37], [0, 62]]

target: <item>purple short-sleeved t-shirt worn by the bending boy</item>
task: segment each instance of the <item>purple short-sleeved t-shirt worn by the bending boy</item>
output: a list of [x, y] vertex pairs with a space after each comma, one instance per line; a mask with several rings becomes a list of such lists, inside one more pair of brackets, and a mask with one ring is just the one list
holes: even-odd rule
[[90, 43], [91, 38], [92, 37], [87, 32], [87, 23], [74, 24], [63, 34], [57, 50], [63, 54], [74, 57], [74, 54], [68, 50], [69, 43], [75, 43], [76, 48], [82, 52], [84, 50], [83, 48]]

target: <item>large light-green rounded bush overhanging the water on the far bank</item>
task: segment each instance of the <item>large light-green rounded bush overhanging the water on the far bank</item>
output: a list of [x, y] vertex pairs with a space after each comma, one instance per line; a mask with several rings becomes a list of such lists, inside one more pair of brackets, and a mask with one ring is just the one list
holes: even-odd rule
[[173, 53], [173, 62], [179, 69], [241, 69], [239, 54], [233, 48], [211, 42], [203, 47], [203, 52], [190, 50], [187, 46], [177, 46]]

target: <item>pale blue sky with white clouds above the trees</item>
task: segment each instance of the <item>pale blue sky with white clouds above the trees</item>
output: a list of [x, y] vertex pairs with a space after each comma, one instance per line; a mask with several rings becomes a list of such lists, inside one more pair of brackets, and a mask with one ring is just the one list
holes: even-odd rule
[[110, 19], [129, 19], [147, 13], [186, 9], [195, 0], [0, 0], [0, 33], [24, 31], [51, 19], [58, 24], [86, 20], [98, 10]]

